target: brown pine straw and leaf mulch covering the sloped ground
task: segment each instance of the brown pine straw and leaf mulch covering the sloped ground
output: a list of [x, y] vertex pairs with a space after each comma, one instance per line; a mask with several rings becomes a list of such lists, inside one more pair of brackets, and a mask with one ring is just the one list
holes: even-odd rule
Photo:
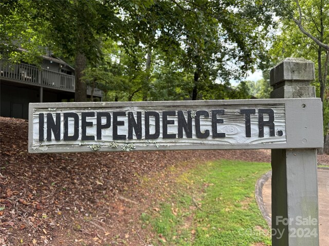
[[158, 194], [143, 179], [206, 160], [270, 161], [261, 150], [29, 154], [27, 121], [0, 124], [1, 246], [144, 245], [140, 215]]

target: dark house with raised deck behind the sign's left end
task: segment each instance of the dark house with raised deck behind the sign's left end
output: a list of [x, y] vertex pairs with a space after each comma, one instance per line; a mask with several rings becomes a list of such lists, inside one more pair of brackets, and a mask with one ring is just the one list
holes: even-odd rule
[[[74, 101], [75, 70], [65, 61], [42, 56], [41, 67], [0, 60], [1, 116], [28, 119], [29, 103]], [[87, 96], [92, 88], [87, 87]], [[95, 88], [94, 98], [102, 100]]]

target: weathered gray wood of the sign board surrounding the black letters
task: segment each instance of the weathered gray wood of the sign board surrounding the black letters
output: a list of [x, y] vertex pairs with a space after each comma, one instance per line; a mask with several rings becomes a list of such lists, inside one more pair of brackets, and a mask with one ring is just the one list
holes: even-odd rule
[[[307, 105], [303, 108], [302, 105]], [[315, 105], [315, 106], [313, 106]], [[185, 149], [271, 149], [271, 148], [303, 148], [319, 145], [319, 141], [314, 138], [315, 134], [320, 134], [319, 124], [314, 129], [314, 118], [321, 112], [316, 110], [319, 105], [317, 99], [267, 99], [267, 100], [210, 100], [210, 101], [164, 101], [164, 102], [135, 102], [135, 103], [52, 103], [52, 104], [30, 104], [29, 118], [29, 151], [30, 152], [85, 152], [93, 151], [120, 151], [128, 143], [133, 144], [133, 150], [185, 150]], [[256, 110], [256, 114], [251, 115], [251, 137], [245, 135], [245, 115], [240, 114], [240, 109]], [[269, 135], [268, 127], [264, 127], [264, 137], [259, 137], [258, 128], [258, 109], [273, 109], [275, 112], [275, 136]], [[225, 115], [218, 115], [218, 118], [224, 120], [224, 124], [217, 125], [218, 132], [224, 132], [225, 138], [211, 137], [211, 110], [224, 109]], [[207, 139], [196, 138], [195, 119], [192, 119], [192, 138], [186, 138], [185, 132], [183, 138], [163, 139], [162, 138], [162, 111], [183, 111], [187, 118], [187, 111], [206, 110], [209, 112], [209, 118], [201, 117], [200, 130], [209, 130], [210, 136]], [[81, 121], [82, 112], [145, 112], [157, 111], [160, 114], [160, 136], [155, 140], [144, 139], [145, 132], [142, 131], [142, 139], [136, 139], [134, 133], [131, 140], [113, 140], [112, 126], [102, 130], [101, 140], [81, 141], [81, 130], [79, 138], [76, 141], [64, 141], [63, 131], [61, 131], [61, 140], [39, 142], [39, 113], [75, 112], [79, 115]], [[176, 113], [177, 115], [177, 113]], [[303, 118], [301, 118], [301, 116]], [[135, 113], [136, 117], [136, 113]], [[301, 121], [296, 120], [301, 118]], [[177, 116], [170, 116], [168, 119], [174, 120], [174, 125], [168, 125], [168, 133], [177, 134]], [[264, 114], [264, 120], [268, 115]], [[312, 120], [310, 120], [312, 119]], [[44, 118], [46, 125], [46, 117]], [[118, 134], [127, 135], [127, 117], [120, 116], [118, 120], [124, 121], [124, 126], [118, 127]], [[96, 125], [95, 117], [88, 117]], [[144, 114], [142, 113], [142, 125]], [[289, 123], [290, 122], [290, 123]], [[72, 120], [69, 120], [69, 135], [72, 135]], [[80, 124], [81, 127], [81, 124]], [[309, 131], [307, 129], [312, 129]], [[63, 119], [61, 121], [63, 129]], [[289, 129], [289, 131], [287, 131]], [[150, 132], [155, 131], [155, 122], [150, 118]], [[282, 131], [279, 136], [278, 131]], [[302, 138], [296, 137], [296, 133], [303, 133]], [[312, 135], [312, 134], [313, 135]], [[96, 136], [96, 127], [87, 127], [88, 135]], [[44, 129], [46, 136], [46, 129]], [[95, 137], [96, 138], [96, 137]], [[306, 142], [304, 139], [306, 139]], [[114, 144], [113, 144], [114, 143]], [[117, 148], [113, 148], [114, 145]], [[93, 147], [94, 146], [94, 147]]]

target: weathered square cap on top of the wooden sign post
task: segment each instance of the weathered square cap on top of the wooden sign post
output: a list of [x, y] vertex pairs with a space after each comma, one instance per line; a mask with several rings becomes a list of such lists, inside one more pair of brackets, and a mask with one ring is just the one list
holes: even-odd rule
[[283, 81], [310, 82], [314, 79], [314, 63], [304, 58], [285, 58], [272, 68], [270, 72], [271, 86], [275, 86]]

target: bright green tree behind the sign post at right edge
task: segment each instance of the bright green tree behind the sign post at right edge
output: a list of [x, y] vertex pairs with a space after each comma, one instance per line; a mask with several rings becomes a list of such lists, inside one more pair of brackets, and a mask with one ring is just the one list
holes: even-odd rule
[[324, 0], [295, 0], [281, 5], [282, 8], [286, 11], [277, 11], [282, 18], [281, 33], [270, 53], [276, 59], [301, 56], [316, 64], [315, 85], [323, 102], [324, 151], [329, 153], [329, 5]]

